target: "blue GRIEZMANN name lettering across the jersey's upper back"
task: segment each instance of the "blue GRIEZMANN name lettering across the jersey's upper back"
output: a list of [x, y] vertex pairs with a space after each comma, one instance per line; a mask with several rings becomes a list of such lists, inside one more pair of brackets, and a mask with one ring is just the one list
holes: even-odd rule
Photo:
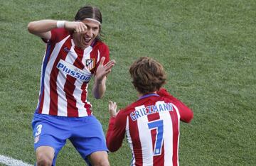
[[174, 111], [173, 104], [164, 103], [164, 101], [161, 101], [151, 106], [137, 106], [135, 107], [135, 111], [132, 111], [130, 114], [130, 117], [132, 118], [132, 121], [137, 121], [137, 118], [154, 114], [156, 112], [160, 113], [161, 111]]

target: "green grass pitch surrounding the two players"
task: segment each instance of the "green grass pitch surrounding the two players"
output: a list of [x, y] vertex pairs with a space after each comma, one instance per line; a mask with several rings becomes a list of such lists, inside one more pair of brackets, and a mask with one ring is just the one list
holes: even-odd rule
[[[107, 101], [123, 108], [137, 99], [129, 65], [154, 57], [167, 72], [164, 87], [194, 112], [190, 124], [181, 123], [180, 165], [256, 165], [255, 0], [1, 1], [0, 155], [35, 162], [31, 119], [45, 45], [28, 33], [28, 22], [72, 21], [85, 4], [101, 9], [117, 62], [105, 97], [90, 96], [105, 131]], [[124, 141], [109, 156], [111, 165], [129, 165], [132, 153]], [[57, 165], [85, 163], [68, 142]]]

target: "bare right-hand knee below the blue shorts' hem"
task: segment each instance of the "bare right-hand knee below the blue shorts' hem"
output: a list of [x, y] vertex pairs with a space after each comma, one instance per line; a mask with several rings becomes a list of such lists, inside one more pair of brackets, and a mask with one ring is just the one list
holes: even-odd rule
[[110, 165], [106, 151], [97, 151], [88, 156], [92, 165]]

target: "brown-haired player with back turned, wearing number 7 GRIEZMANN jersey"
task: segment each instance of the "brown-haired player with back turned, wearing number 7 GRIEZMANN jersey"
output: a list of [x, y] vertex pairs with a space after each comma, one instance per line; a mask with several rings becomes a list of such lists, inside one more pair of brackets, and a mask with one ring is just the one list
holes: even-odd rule
[[118, 113], [117, 104], [110, 101], [107, 148], [118, 150], [126, 135], [131, 165], [178, 165], [180, 121], [189, 123], [193, 112], [161, 88], [166, 74], [159, 62], [141, 57], [129, 72], [139, 99]]

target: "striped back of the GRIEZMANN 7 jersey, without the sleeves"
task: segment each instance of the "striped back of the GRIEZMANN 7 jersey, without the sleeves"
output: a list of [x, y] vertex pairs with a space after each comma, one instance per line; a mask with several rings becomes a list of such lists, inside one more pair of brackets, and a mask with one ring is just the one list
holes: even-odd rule
[[129, 106], [126, 133], [132, 165], [178, 165], [180, 114], [175, 102], [157, 94]]

